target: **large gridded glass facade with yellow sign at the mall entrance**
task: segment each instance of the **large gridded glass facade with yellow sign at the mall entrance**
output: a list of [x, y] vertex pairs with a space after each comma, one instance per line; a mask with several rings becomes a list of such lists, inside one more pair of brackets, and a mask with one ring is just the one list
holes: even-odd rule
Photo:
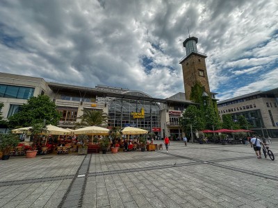
[[[147, 96], [140, 92], [126, 92], [137, 96]], [[149, 96], [147, 96], [149, 97]], [[113, 98], [108, 104], [108, 126], [132, 126], [151, 131], [160, 128], [161, 114], [157, 103]]]

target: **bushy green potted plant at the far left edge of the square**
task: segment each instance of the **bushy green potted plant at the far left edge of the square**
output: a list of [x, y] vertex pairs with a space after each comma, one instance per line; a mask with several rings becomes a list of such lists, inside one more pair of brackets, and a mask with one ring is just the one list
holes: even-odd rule
[[10, 151], [19, 144], [17, 135], [12, 133], [0, 134], [0, 150], [3, 153], [2, 159], [6, 160], [10, 157]]

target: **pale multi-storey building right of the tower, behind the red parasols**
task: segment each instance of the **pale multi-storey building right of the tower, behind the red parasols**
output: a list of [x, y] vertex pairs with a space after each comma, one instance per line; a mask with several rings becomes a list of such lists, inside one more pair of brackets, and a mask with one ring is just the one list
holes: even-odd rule
[[253, 92], [218, 102], [218, 113], [232, 114], [236, 121], [245, 116], [253, 127], [251, 130], [265, 137], [278, 137], [278, 88]]

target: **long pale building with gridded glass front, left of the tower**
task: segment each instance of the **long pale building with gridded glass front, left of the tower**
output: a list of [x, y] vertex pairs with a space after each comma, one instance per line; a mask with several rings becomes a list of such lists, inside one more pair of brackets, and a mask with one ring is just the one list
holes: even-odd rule
[[[62, 128], [74, 128], [83, 110], [102, 110], [108, 114], [108, 128], [133, 126], [154, 132], [160, 137], [182, 136], [178, 119], [188, 105], [179, 93], [170, 98], [152, 98], [145, 92], [121, 87], [97, 85], [95, 88], [47, 83], [43, 78], [0, 73], [0, 103], [3, 119], [20, 110], [28, 98], [46, 94], [57, 105]], [[6, 132], [6, 129], [1, 129]]]

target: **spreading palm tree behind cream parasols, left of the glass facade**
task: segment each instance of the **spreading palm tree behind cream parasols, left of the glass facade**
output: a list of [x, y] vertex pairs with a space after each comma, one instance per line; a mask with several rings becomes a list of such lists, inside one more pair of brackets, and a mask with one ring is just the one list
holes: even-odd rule
[[106, 124], [108, 116], [102, 110], [83, 110], [83, 115], [78, 119], [81, 122], [76, 123], [76, 126], [92, 126]]

